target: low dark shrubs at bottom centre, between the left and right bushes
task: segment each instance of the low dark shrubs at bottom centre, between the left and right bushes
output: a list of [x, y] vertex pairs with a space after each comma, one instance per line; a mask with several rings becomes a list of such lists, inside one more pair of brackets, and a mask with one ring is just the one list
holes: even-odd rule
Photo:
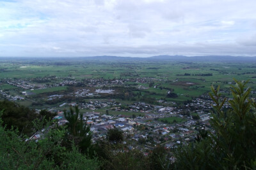
[[145, 156], [136, 148], [112, 141], [98, 141], [93, 145], [93, 152], [100, 160], [100, 169], [125, 170], [155, 170], [171, 169], [173, 166], [168, 159], [170, 153], [163, 146], [156, 146]]

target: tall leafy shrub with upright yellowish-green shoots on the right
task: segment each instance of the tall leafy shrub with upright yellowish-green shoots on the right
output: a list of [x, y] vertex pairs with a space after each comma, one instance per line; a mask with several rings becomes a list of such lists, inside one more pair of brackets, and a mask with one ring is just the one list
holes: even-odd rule
[[256, 104], [249, 98], [246, 82], [236, 81], [232, 87], [231, 109], [223, 111], [227, 101], [220, 87], [210, 96], [214, 113], [210, 120], [214, 132], [198, 135], [196, 143], [183, 146], [176, 152], [177, 169], [256, 169]]

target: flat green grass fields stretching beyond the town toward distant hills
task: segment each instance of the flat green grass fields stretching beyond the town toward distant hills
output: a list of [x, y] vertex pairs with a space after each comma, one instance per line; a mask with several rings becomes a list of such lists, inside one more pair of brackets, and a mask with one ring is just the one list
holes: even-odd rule
[[[135, 87], [136, 90], [130, 92], [129, 99], [120, 99], [122, 104], [132, 104], [134, 102], [147, 102], [142, 99], [150, 99], [152, 103], [164, 99], [175, 103], [183, 103], [195, 97], [207, 94], [211, 90], [211, 85], [220, 85], [221, 90], [229, 90], [230, 83], [234, 83], [233, 78], [237, 80], [250, 80], [248, 86], [256, 90], [256, 70], [255, 63], [235, 63], [235, 62], [102, 62], [98, 60], [83, 61], [76, 60], [58, 60], [58, 59], [38, 59], [29, 60], [12, 60], [0, 62], [0, 90], [10, 94], [20, 95], [24, 89], [8, 85], [7, 80], [24, 80], [31, 84], [44, 85], [38, 83], [35, 78], [50, 78], [47, 84], [54, 85], [65, 79], [81, 81], [86, 79], [103, 79], [103, 80], [125, 80], [122, 90], [125, 92], [126, 87]], [[212, 76], [204, 76], [204, 74]], [[54, 77], [54, 79], [51, 79]], [[154, 82], [156, 88], [149, 87], [149, 83]], [[188, 85], [188, 83], [190, 83]], [[149, 87], [148, 89], [138, 89], [138, 85]], [[233, 84], [234, 85], [234, 84]], [[115, 86], [115, 85], [113, 85]], [[161, 89], [160, 89], [161, 87]], [[93, 87], [101, 88], [101, 87]], [[109, 86], [109, 88], [111, 88]], [[167, 97], [168, 89], [173, 89], [177, 97]], [[35, 95], [46, 92], [60, 92], [67, 90], [67, 87], [51, 87], [41, 90], [33, 90]], [[140, 97], [138, 97], [140, 93]], [[228, 94], [225, 94], [228, 95]], [[76, 102], [76, 101], [74, 101]], [[112, 114], [115, 113], [113, 111]], [[132, 115], [133, 113], [124, 113]], [[141, 113], [142, 114], [142, 113]]]

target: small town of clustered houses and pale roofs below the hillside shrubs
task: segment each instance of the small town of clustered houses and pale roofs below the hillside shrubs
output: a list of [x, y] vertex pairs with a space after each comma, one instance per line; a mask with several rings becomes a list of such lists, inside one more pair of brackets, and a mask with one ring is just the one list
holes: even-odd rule
[[[68, 79], [68, 78], [66, 78]], [[59, 80], [59, 78], [42, 78], [37, 81], [50, 81]], [[140, 78], [140, 79], [127, 79], [127, 80], [113, 80], [106, 81], [103, 79], [86, 79], [84, 84], [86, 87], [79, 87], [74, 92], [66, 94], [53, 94], [45, 97], [46, 101], [54, 101], [63, 97], [93, 97], [100, 96], [100, 94], [113, 94], [115, 90], [109, 88], [115, 85], [122, 85], [127, 81], [133, 83], [150, 83], [154, 78]], [[24, 89], [20, 96], [11, 96], [1, 90], [1, 96], [10, 99], [11, 101], [24, 100], [26, 97], [33, 95], [36, 89], [46, 89], [49, 87], [63, 87], [74, 86], [81, 81], [65, 80], [60, 83], [32, 83], [26, 80], [4, 80], [9, 85]], [[163, 81], [163, 80], [162, 80]], [[178, 79], [175, 80], [179, 81]], [[92, 92], [92, 87], [106, 87], [111, 85], [108, 90], [96, 89]], [[81, 86], [81, 85], [80, 85]], [[83, 85], [82, 85], [83, 86]], [[141, 89], [141, 85], [137, 88]], [[154, 85], [157, 88], [157, 85]], [[148, 89], [148, 87], [147, 87]], [[227, 93], [227, 91], [221, 91]], [[63, 115], [63, 111], [59, 108], [78, 106], [79, 110], [83, 110], [83, 120], [90, 126], [93, 133], [92, 141], [106, 138], [106, 132], [109, 129], [117, 128], [124, 132], [124, 143], [129, 145], [129, 148], [137, 148], [147, 154], [148, 149], [152, 149], [157, 145], [164, 146], [172, 150], [177, 148], [180, 143], [186, 144], [195, 140], [198, 129], [210, 130], [209, 119], [211, 118], [212, 101], [209, 95], [202, 95], [197, 97], [186, 104], [177, 106], [174, 102], [166, 102], [159, 99], [156, 104], [147, 104], [144, 102], [134, 102], [132, 104], [121, 104], [115, 99], [88, 99], [88, 102], [65, 102], [59, 106], [46, 108], [47, 110], [58, 113], [54, 119], [58, 121], [59, 125], [65, 125], [67, 120]], [[227, 103], [225, 107], [228, 107]], [[45, 109], [45, 108], [44, 108]], [[104, 110], [97, 112], [98, 109]], [[40, 111], [36, 109], [36, 111]], [[111, 112], [115, 111], [115, 115]], [[120, 113], [120, 114], [118, 114]], [[128, 114], [122, 114], [128, 113]], [[136, 114], [135, 114], [136, 113]], [[35, 139], [38, 136], [34, 137]]]

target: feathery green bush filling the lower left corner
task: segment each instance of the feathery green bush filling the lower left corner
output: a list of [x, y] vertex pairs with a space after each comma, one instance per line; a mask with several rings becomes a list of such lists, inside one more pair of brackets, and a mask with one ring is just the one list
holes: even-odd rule
[[[2, 115], [3, 113], [1, 113]], [[35, 135], [40, 140], [19, 135], [17, 129], [6, 129], [0, 118], [0, 167], [1, 169], [98, 169], [99, 162], [88, 159], [75, 145], [67, 150], [61, 145], [64, 127], [50, 123], [42, 129], [42, 122], [35, 122]]]

